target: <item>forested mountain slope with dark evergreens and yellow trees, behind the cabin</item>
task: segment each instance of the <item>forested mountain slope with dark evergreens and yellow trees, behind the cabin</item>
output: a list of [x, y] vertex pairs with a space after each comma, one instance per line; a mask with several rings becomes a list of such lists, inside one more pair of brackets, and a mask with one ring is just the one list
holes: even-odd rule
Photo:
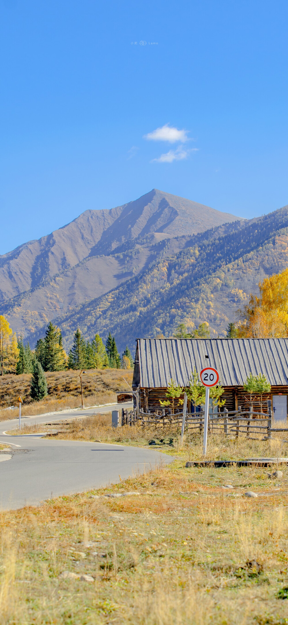
[[288, 206], [176, 237], [178, 251], [171, 241], [138, 276], [56, 319], [65, 344], [77, 326], [87, 338], [110, 330], [120, 351], [126, 344], [133, 349], [137, 337], [172, 336], [182, 321], [191, 329], [208, 321], [212, 336], [226, 336], [228, 322], [249, 293], [257, 293], [259, 281], [288, 266]]

